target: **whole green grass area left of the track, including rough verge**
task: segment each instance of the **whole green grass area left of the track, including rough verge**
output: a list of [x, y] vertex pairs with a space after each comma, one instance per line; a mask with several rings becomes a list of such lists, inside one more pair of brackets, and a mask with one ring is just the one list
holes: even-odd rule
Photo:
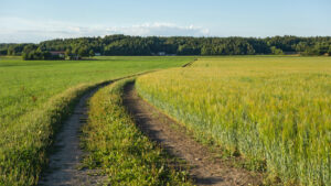
[[0, 58], [0, 185], [33, 185], [46, 150], [75, 99], [105, 80], [181, 66], [192, 57], [97, 57], [97, 61]]

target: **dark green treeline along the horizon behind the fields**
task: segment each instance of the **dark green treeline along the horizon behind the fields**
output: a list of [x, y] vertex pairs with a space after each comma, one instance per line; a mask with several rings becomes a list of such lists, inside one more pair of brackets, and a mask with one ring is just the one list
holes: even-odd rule
[[49, 52], [62, 51], [66, 57], [100, 55], [331, 55], [331, 36], [298, 37], [186, 37], [128, 36], [51, 40], [40, 44], [0, 44], [0, 55], [23, 58], [52, 58]]

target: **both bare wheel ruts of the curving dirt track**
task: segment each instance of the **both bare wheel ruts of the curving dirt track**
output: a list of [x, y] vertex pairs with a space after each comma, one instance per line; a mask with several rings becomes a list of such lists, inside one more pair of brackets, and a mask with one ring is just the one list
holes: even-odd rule
[[[92, 176], [96, 175], [97, 171], [79, 169], [82, 165], [81, 160], [84, 156], [79, 147], [79, 129], [87, 119], [88, 108], [86, 102], [99, 87], [79, 99], [74, 109], [74, 114], [63, 124], [63, 129], [56, 135], [54, 143], [54, 149], [57, 151], [51, 155], [50, 167], [47, 172], [43, 173], [39, 185], [88, 186], [98, 185], [105, 178], [103, 176]], [[260, 184], [260, 176], [253, 176], [247, 171], [233, 168], [221, 160], [215, 158], [213, 152], [186, 135], [183, 127], [138, 97], [134, 84], [125, 87], [124, 102], [145, 134], [161, 144], [170, 154], [184, 160], [189, 164], [191, 167], [190, 175], [196, 185]], [[175, 129], [173, 125], [175, 125]]]

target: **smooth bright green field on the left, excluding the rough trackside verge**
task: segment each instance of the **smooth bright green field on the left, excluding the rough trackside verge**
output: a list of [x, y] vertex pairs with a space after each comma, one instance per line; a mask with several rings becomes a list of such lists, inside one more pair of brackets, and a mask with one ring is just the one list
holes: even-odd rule
[[13, 119], [78, 84], [95, 84], [189, 61], [190, 57], [99, 57], [72, 62], [0, 58], [0, 123], [15, 122]]

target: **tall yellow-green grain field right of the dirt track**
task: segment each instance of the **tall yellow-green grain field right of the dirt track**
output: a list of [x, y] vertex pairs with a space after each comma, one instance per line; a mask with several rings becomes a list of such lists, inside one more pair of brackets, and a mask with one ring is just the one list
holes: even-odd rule
[[201, 57], [137, 79], [139, 95], [266, 183], [331, 185], [331, 58]]

